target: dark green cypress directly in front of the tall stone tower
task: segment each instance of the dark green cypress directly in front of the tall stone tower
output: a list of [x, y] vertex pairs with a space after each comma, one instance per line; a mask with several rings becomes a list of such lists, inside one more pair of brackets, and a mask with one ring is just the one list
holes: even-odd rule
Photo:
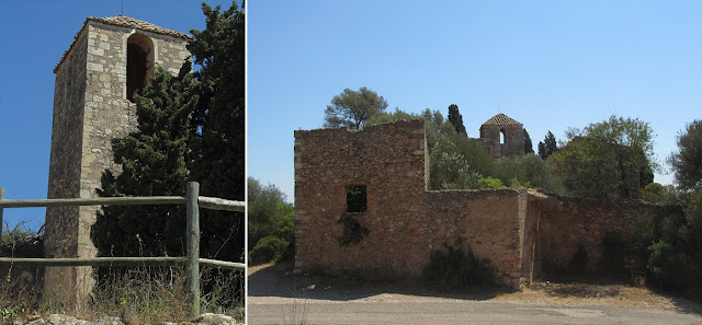
[[[150, 85], [135, 95], [138, 131], [112, 141], [122, 173], [103, 173], [100, 196], [183, 195], [189, 117], [199, 101], [190, 95], [195, 82], [186, 72], [173, 77], [159, 67]], [[182, 256], [184, 230], [182, 206], [105, 206], [91, 236], [102, 256]]]

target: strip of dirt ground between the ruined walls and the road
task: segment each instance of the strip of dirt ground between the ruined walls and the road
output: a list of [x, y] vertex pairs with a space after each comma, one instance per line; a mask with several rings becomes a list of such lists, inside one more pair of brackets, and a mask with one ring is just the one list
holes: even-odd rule
[[421, 283], [371, 282], [353, 278], [292, 275], [290, 265], [261, 265], [248, 269], [249, 304], [285, 304], [305, 299], [315, 302], [412, 302], [475, 300], [567, 306], [632, 306], [680, 312], [702, 312], [700, 303], [623, 282], [542, 281], [521, 291], [477, 288], [446, 293]]

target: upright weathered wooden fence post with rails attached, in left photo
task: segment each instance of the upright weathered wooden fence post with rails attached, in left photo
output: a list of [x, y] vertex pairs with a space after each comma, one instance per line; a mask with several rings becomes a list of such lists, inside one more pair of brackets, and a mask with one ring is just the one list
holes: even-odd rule
[[186, 227], [186, 259], [188, 259], [188, 297], [190, 309], [194, 316], [200, 315], [200, 210], [197, 198], [200, 197], [200, 184], [189, 182], [185, 189], [185, 210], [188, 216]]

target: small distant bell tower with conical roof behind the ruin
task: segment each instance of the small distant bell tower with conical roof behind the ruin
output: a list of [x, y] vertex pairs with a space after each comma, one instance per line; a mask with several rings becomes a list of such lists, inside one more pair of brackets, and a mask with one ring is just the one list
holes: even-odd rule
[[[524, 154], [524, 131], [522, 124], [505, 114], [492, 116], [480, 126], [480, 139], [484, 147], [491, 147], [494, 159]], [[490, 146], [486, 146], [486, 144]]]

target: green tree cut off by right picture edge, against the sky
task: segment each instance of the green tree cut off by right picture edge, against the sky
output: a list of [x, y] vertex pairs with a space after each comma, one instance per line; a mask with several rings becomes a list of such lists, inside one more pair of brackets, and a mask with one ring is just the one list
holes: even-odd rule
[[677, 140], [678, 151], [668, 158], [676, 183], [686, 190], [702, 190], [702, 120], [688, 124]]

